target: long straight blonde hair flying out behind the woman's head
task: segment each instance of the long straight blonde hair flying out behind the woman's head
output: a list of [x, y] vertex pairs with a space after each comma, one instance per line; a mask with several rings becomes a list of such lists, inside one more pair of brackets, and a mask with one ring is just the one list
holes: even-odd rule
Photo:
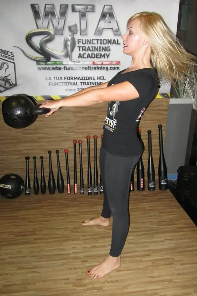
[[140, 12], [129, 18], [138, 18], [143, 32], [151, 44], [151, 64], [159, 78], [170, 81], [173, 85], [182, 75], [188, 73], [191, 66], [196, 65], [196, 57], [186, 52], [179, 39], [172, 33], [163, 17], [156, 12]]

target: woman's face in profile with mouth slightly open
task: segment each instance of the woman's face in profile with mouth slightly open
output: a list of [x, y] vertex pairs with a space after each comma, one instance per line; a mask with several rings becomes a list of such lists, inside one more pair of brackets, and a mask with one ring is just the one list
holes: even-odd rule
[[132, 20], [127, 26], [127, 32], [122, 35], [123, 52], [133, 56], [141, 50], [145, 39], [146, 36], [141, 30], [141, 22], [137, 18]]

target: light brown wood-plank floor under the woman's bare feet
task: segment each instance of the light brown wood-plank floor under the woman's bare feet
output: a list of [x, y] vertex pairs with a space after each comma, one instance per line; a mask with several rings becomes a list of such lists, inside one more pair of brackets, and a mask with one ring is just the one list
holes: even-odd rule
[[109, 253], [112, 226], [82, 226], [102, 196], [0, 197], [1, 296], [196, 296], [197, 227], [169, 192], [132, 192], [120, 269], [86, 271]]

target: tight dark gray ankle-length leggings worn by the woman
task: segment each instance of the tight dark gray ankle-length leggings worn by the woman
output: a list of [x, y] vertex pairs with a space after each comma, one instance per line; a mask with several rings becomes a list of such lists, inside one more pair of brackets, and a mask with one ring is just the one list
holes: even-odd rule
[[138, 163], [138, 156], [117, 156], [101, 146], [100, 170], [104, 184], [104, 200], [101, 216], [113, 216], [112, 244], [109, 255], [118, 257], [125, 245], [129, 230], [128, 195], [130, 179]]

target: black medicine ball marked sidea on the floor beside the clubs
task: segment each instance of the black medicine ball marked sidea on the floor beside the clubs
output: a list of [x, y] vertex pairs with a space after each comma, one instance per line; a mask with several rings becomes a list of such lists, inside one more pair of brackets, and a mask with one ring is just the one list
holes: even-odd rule
[[0, 194], [13, 199], [22, 194], [25, 188], [23, 179], [17, 174], [7, 174], [0, 179]]

